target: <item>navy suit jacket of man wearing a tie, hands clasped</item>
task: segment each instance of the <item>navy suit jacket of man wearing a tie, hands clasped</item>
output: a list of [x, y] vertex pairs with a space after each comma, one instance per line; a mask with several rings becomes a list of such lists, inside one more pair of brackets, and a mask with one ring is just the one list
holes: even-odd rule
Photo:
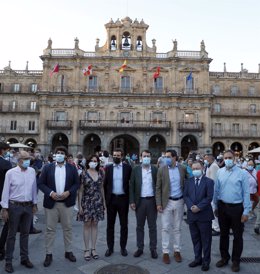
[[[214, 219], [211, 201], [214, 194], [214, 181], [202, 176], [197, 192], [195, 192], [195, 178], [190, 178], [184, 187], [183, 198], [187, 205], [188, 223], [199, 221], [208, 222]], [[199, 212], [193, 213], [191, 207], [197, 205]]]

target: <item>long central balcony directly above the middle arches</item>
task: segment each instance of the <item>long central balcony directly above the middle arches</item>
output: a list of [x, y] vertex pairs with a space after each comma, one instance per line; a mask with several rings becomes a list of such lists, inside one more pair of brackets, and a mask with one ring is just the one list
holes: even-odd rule
[[170, 121], [139, 121], [139, 120], [80, 120], [79, 128], [86, 129], [103, 129], [103, 130], [169, 130]]

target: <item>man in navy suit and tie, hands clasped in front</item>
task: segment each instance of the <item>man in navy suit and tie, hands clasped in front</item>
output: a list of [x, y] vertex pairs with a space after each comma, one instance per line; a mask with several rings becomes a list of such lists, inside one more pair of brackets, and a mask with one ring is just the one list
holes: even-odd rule
[[212, 241], [211, 222], [214, 219], [211, 207], [214, 181], [203, 176], [203, 166], [200, 162], [193, 163], [192, 173], [193, 177], [185, 184], [183, 194], [188, 209], [187, 220], [195, 253], [195, 260], [189, 266], [202, 265], [201, 270], [208, 271]]

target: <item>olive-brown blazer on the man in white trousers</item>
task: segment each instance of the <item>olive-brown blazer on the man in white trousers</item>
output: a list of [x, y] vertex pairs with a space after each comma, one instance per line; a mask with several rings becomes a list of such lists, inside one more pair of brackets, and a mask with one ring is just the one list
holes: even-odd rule
[[[178, 165], [180, 172], [180, 184], [182, 191], [184, 190], [185, 179], [189, 178], [186, 167]], [[156, 182], [156, 204], [161, 205], [164, 209], [169, 201], [170, 195], [170, 176], [168, 166], [158, 169]]]

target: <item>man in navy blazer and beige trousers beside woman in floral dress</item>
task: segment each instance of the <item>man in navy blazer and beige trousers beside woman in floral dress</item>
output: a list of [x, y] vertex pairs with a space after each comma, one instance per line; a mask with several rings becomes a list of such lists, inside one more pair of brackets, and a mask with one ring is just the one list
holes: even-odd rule
[[57, 147], [56, 163], [46, 165], [39, 178], [39, 189], [44, 193], [43, 206], [46, 215], [46, 258], [44, 266], [52, 262], [52, 249], [56, 226], [60, 221], [65, 245], [65, 258], [76, 262], [72, 253], [72, 207], [79, 188], [79, 177], [75, 166], [66, 163], [67, 149]]

